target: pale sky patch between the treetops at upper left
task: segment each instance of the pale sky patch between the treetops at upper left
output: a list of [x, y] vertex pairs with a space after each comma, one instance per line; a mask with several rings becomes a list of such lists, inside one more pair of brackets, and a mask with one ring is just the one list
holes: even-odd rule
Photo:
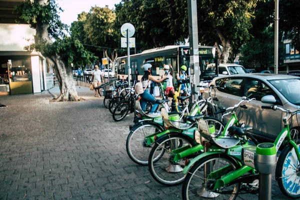
[[121, 0], [57, 0], [58, 6], [63, 9], [61, 12], [60, 20], [63, 23], [71, 25], [71, 22], [77, 20], [77, 15], [82, 11], [88, 12], [91, 6], [104, 7], [114, 9], [114, 4], [119, 3]]

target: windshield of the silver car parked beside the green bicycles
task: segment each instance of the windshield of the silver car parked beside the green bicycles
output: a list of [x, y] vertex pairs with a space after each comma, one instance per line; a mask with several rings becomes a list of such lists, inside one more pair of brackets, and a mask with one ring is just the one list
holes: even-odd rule
[[269, 82], [291, 103], [300, 105], [300, 79], [277, 79]]

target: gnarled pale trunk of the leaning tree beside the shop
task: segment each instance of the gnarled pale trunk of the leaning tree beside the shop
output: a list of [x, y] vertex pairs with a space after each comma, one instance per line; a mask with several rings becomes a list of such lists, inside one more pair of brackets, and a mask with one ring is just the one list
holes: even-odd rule
[[[45, 4], [45, 0], [36, 0], [40, 5]], [[45, 44], [53, 43], [48, 33], [49, 24], [41, 23], [37, 20], [36, 23], [36, 34], [35, 34], [35, 44]], [[60, 95], [55, 99], [55, 101], [74, 101], [78, 100], [78, 95], [76, 91], [76, 86], [73, 80], [71, 68], [67, 68], [65, 63], [60, 59], [59, 55], [47, 55], [45, 52], [41, 51], [46, 57], [47, 62], [54, 69], [55, 75], [60, 88]]]

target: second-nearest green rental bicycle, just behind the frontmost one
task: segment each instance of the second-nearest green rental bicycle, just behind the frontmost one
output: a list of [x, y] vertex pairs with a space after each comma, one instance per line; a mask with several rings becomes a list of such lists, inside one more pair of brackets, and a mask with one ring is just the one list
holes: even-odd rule
[[[243, 123], [240, 124], [238, 122], [235, 112], [236, 109], [239, 108], [239, 106], [242, 103], [244, 103], [245, 100], [249, 102], [252, 99], [248, 100], [246, 97], [243, 97], [242, 100], [236, 105], [218, 111], [218, 112], [224, 112], [225, 110], [230, 110], [229, 112], [225, 113], [225, 114], [231, 113], [232, 115], [226, 125], [224, 125], [220, 121], [219, 123], [212, 122], [210, 120], [206, 121], [208, 122], [207, 124], [210, 126], [210, 128], [212, 128], [209, 129], [209, 132], [211, 135], [213, 135], [213, 137], [219, 137], [219, 138], [222, 137], [223, 140], [226, 137], [228, 139], [230, 137], [227, 136], [229, 127], [231, 127], [232, 125], [243, 126]], [[166, 120], [165, 124], [170, 124], [170, 122], [167, 121], [167, 117], [163, 117], [163, 119]], [[220, 126], [218, 124], [222, 124], [222, 125]], [[174, 126], [173, 124], [170, 125]], [[197, 138], [199, 138], [198, 129], [197, 127], [194, 127], [193, 132], [170, 131], [167, 134], [164, 134], [161, 137], [159, 137], [157, 140], [155, 140], [155, 143], [150, 151], [149, 159], [148, 159], [148, 163], [149, 163], [148, 168], [152, 177], [157, 182], [164, 185], [180, 184], [185, 177], [185, 174], [182, 173], [182, 168], [189, 162], [190, 159], [194, 158], [199, 153], [201, 153], [203, 146], [206, 145], [202, 143], [197, 143], [196, 142]], [[251, 139], [254, 142], [257, 142], [253, 137]], [[176, 142], [178, 142], [178, 140], [184, 141], [183, 145], [180, 146], [180, 148], [175, 148]], [[240, 140], [235, 137], [230, 137], [229, 142], [226, 143], [224, 143], [223, 140], [222, 140], [223, 147], [227, 147], [227, 146], [232, 147], [235, 146], [237, 143], [248, 145], [246, 138], [242, 138]], [[211, 150], [219, 150], [220, 148], [222, 148], [222, 146], [219, 145], [210, 146]]]

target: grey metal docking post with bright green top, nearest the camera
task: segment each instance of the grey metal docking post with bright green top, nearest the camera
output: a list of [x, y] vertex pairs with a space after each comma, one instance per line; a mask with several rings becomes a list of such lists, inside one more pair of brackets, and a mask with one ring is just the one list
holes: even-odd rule
[[254, 156], [255, 169], [259, 172], [258, 199], [270, 200], [272, 172], [276, 167], [276, 147], [273, 143], [260, 143]]

